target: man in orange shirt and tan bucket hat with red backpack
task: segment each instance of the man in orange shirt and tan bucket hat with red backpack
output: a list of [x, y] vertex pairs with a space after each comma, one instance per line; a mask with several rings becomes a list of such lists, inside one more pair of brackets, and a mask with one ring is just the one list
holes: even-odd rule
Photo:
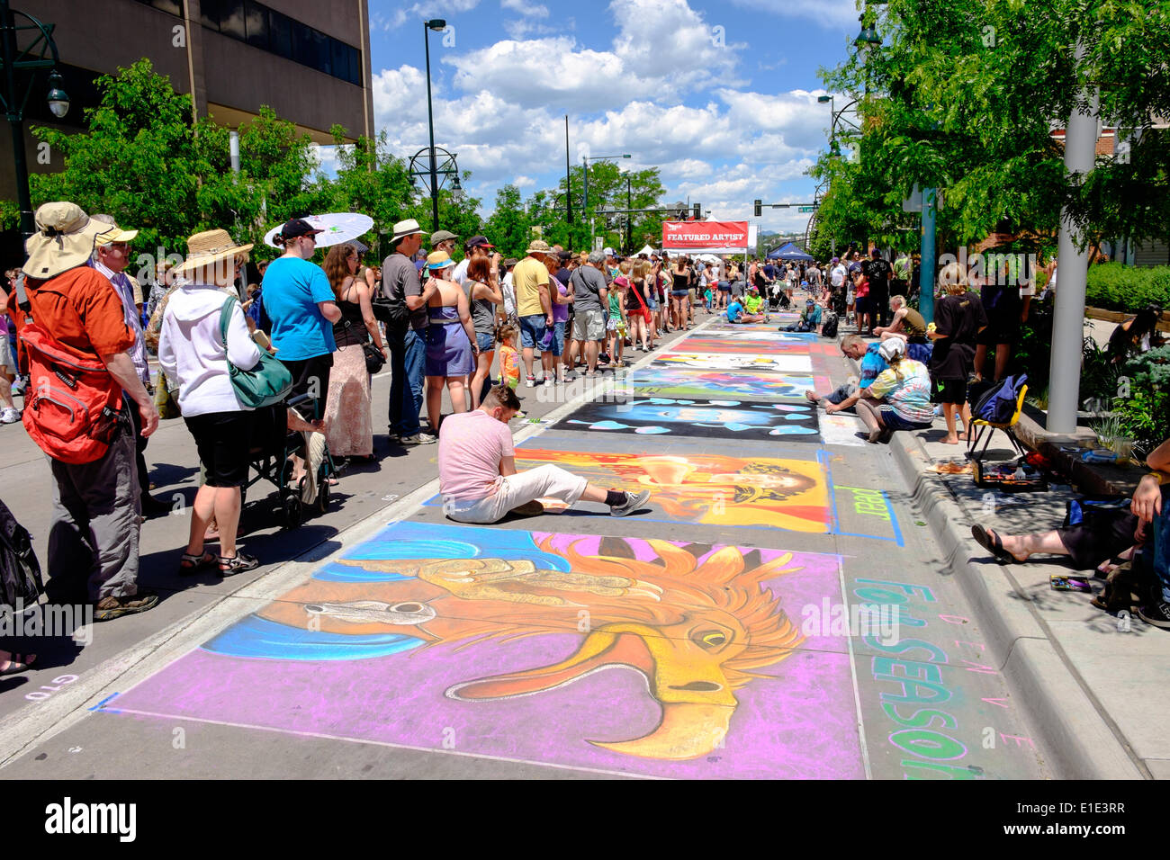
[[41, 206], [25, 243], [25, 277], [8, 301], [29, 371], [25, 429], [53, 473], [47, 591], [61, 601], [70, 577], [84, 571], [97, 621], [158, 604], [138, 587], [142, 510], [123, 392], [137, 406], [143, 436], [158, 427], [158, 412], [130, 355], [136, 340], [122, 300], [87, 264], [110, 229], [75, 204]]

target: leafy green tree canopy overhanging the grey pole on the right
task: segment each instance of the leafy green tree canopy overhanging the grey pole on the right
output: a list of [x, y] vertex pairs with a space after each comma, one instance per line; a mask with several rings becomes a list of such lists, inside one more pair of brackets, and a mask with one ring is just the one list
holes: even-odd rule
[[[830, 197], [839, 198], [819, 213], [823, 228], [897, 235], [913, 226], [900, 202], [917, 184], [943, 188], [944, 245], [992, 232], [1051, 243], [1062, 206], [1090, 241], [1170, 233], [1170, 144], [1151, 128], [1170, 111], [1170, 7], [890, 0], [885, 9], [876, 21], [885, 43], [867, 62], [852, 56], [823, 70], [830, 89], [861, 94], [863, 130], [838, 136], [853, 161], [825, 156], [815, 168], [832, 176]], [[1106, 125], [1137, 129], [1141, 139], [1127, 159], [1100, 158], [1075, 187], [1051, 132], [1086, 85], [1100, 92]]]

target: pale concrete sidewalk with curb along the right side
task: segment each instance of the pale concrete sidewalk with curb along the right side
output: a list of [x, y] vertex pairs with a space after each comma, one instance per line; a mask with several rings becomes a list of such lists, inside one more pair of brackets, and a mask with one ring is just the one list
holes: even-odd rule
[[[971, 537], [979, 523], [1002, 534], [1057, 528], [1072, 487], [1004, 494], [978, 488], [970, 473], [940, 474], [938, 463], [964, 461], [965, 448], [944, 445], [938, 428], [895, 433], [889, 452], [914, 488], [956, 577], [986, 631], [989, 656], [1004, 674], [1030, 722], [1044, 727], [1042, 750], [1060, 778], [1170, 778], [1170, 638], [1141, 618], [1114, 618], [1092, 594], [1054, 591], [1048, 577], [1066, 559], [1040, 556], [1000, 565]], [[1014, 453], [999, 436], [989, 459]], [[1102, 559], [1103, 560], [1103, 559]], [[1092, 571], [1088, 571], [1092, 576]], [[1102, 580], [1094, 580], [1100, 593]]]

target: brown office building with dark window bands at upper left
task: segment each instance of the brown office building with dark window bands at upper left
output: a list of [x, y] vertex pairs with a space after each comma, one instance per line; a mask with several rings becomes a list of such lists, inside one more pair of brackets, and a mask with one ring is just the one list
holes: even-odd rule
[[[53, 23], [69, 113], [44, 102], [37, 75], [25, 112], [30, 172], [61, 170], [62, 153], [44, 151], [33, 125], [66, 131], [84, 124], [97, 104], [94, 81], [149, 57], [179, 92], [193, 92], [197, 116], [235, 128], [262, 104], [317, 143], [330, 128], [347, 139], [373, 135], [366, 0], [11, 0], [14, 9]], [[18, 15], [18, 25], [22, 21]], [[21, 34], [21, 44], [30, 40]], [[0, 198], [15, 200], [12, 136], [0, 135]]]

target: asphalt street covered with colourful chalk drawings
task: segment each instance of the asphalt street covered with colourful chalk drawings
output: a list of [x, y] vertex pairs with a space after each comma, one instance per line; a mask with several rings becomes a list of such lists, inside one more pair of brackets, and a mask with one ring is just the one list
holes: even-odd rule
[[[803, 397], [845, 380], [835, 343], [700, 322], [600, 386], [519, 388], [519, 468], [651, 489], [629, 516], [459, 525], [436, 446], [376, 421], [390, 455], [329, 512], [282, 530], [249, 493], [247, 579], [180, 579], [181, 505], [147, 521], [165, 599], [0, 682], [4, 775], [1051, 776], [889, 448]], [[43, 559], [44, 459], [22, 433], [0, 456]], [[190, 501], [181, 422], [147, 460]]]

